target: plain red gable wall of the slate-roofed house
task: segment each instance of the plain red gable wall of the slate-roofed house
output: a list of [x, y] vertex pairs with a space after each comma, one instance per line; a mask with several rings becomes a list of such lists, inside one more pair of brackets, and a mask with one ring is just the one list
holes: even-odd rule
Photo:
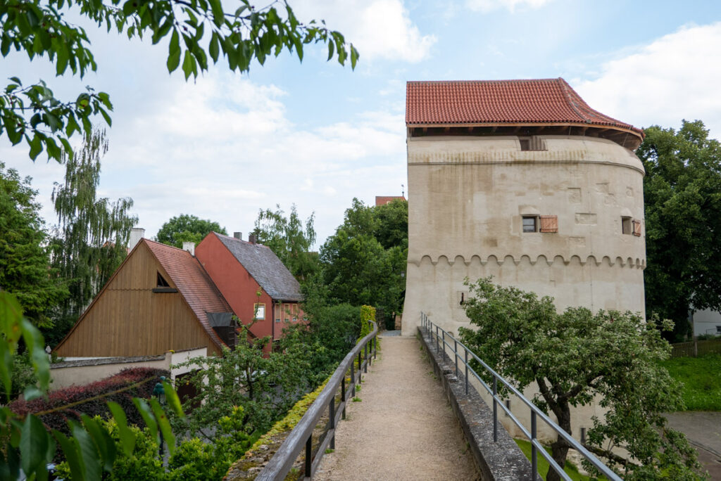
[[195, 247], [195, 257], [244, 325], [252, 322], [255, 304], [265, 304], [265, 319], [257, 320], [249, 331], [259, 338], [273, 335], [273, 300], [215, 235], [205, 236]]

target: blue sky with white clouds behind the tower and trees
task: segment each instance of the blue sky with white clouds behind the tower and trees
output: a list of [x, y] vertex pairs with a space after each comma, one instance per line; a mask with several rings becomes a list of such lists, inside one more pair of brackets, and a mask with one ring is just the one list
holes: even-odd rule
[[[225, 4], [231, 6], [232, 0]], [[180, 214], [247, 238], [259, 210], [315, 214], [317, 247], [353, 197], [407, 193], [405, 84], [565, 78], [593, 109], [637, 127], [703, 120], [721, 138], [721, 2], [627, 0], [289, 0], [361, 55], [308, 46], [249, 73], [223, 61], [193, 81], [165, 66], [167, 40], [87, 28], [97, 72], [56, 77], [47, 58], [11, 53], [3, 77], [45, 79], [58, 98], [84, 86], [114, 105], [99, 196], [131, 197], [146, 237]], [[209, 40], [209, 39], [208, 39]], [[98, 118], [98, 123], [102, 122]], [[32, 176], [48, 227], [64, 167], [0, 138], [0, 161]]]

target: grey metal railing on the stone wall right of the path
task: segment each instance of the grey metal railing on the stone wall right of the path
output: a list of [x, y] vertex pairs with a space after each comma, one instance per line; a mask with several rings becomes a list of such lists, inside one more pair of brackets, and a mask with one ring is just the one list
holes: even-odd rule
[[[513, 421], [513, 423], [518, 426], [519, 429], [523, 432], [523, 434], [526, 435], [526, 437], [531, 441], [531, 469], [534, 473], [534, 479], [536, 478], [536, 475], [538, 475], [538, 453], [541, 453], [541, 456], [543, 456], [547, 462], [551, 465], [551, 467], [554, 469], [555, 472], [558, 473], [560, 477], [562, 477], [564, 480], [571, 481], [571, 478], [566, 474], [566, 472], [563, 470], [562, 467], [558, 465], [557, 462], [554, 461], [554, 459], [551, 457], [550, 454], [544, 449], [544, 446], [539, 442], [539, 440], [536, 437], [536, 431], [537, 431], [537, 422], [540, 418], [541, 421], [544, 421], [544, 423], [547, 424], [550, 428], [553, 429], [559, 436], [561, 436], [572, 449], [575, 449], [576, 451], [581, 454], [590, 464], [593, 464], [594, 467], [596, 467], [601, 474], [606, 476], [609, 480], [614, 481], [622, 481], [621, 478], [616, 475], [615, 472], [611, 470], [606, 464], [603, 464], [597, 457], [595, 457], [593, 454], [588, 451], [588, 449], [585, 449], [582, 444], [580, 444], [578, 441], [573, 439], [572, 436], [570, 436], [569, 433], [565, 431], [565, 429], [558, 426], [554, 421], [552, 421], [547, 415], [544, 414], [543, 411], [541, 411], [534, 403], [531, 403], [531, 401], [527, 400], [523, 394], [521, 394], [520, 391], [516, 389], [516, 387], [513, 387], [513, 385], [510, 384], [506, 379], [500, 376], [497, 372], [495, 372], [493, 369], [491, 369], [488, 364], [486, 364], [482, 359], [480, 359], [476, 354], [473, 353], [470, 349], [468, 349], [464, 343], [461, 343], [458, 341], [454, 336], [451, 336], [450, 333], [445, 331], [443, 328], [438, 326], [437, 324], [433, 323], [428, 319], [428, 316], [424, 313], [420, 314], [420, 321], [421, 321], [421, 328], [423, 328], [423, 331], [428, 334], [428, 338], [430, 340], [429, 348], [430, 346], [435, 343], [435, 351], [440, 353], [441, 351], [441, 345], [443, 346], [443, 354], [448, 354], [446, 351], [446, 347], [448, 347], [448, 350], [451, 352], [453, 358], [454, 358], [454, 365], [456, 367], [456, 377], [459, 375], [459, 359], [461, 361], [461, 364], [463, 365], [464, 369], [464, 378], [465, 378], [465, 389], [466, 394], [468, 394], [468, 388], [469, 388], [469, 373], [472, 374], [473, 377], [477, 379], [478, 382], [481, 383], [483, 387], [485, 387], [485, 390], [492, 395], [493, 397], [493, 441], [498, 441], [498, 406], [500, 405], [500, 408], [503, 409], [508, 415], [508, 417]], [[459, 353], [459, 348], [463, 349], [462, 353]], [[450, 355], [448, 357], [451, 357]], [[469, 362], [470, 361], [477, 361], [478, 364], [480, 364], [483, 369], [485, 369], [488, 374], [492, 377], [491, 386], [487, 384], [475, 370], [470, 367]], [[519, 400], [526, 406], [528, 406], [528, 409], [531, 410], [531, 431], [528, 431], [526, 429], [526, 426], [523, 426], [521, 421], [518, 421], [518, 418], [516, 418], [513, 413], [510, 412], [509, 405], [506, 405], [503, 402], [503, 399], [498, 396], [498, 383], [500, 382], [501, 385], [505, 386], [506, 389], [508, 389], [510, 392], [513, 392], [516, 397], [518, 397]]]

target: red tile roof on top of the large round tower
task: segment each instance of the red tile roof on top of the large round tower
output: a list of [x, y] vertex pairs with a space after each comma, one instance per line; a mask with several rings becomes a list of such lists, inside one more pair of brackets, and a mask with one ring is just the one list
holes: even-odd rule
[[406, 123], [589, 124], [643, 132], [588, 107], [563, 78], [408, 82]]

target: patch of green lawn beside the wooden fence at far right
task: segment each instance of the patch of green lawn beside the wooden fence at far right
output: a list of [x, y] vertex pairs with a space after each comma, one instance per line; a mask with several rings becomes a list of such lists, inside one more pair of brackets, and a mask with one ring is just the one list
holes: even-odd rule
[[684, 384], [686, 410], [721, 411], [721, 354], [666, 359], [661, 365]]

